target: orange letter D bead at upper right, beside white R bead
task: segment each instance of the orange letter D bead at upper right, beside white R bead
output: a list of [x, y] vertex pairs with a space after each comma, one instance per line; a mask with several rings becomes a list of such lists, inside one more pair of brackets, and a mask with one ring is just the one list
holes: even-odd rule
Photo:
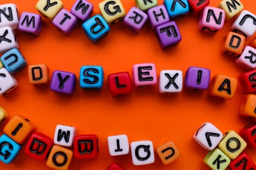
[[239, 56], [243, 52], [244, 44], [244, 35], [230, 31], [226, 34], [226, 39], [223, 42], [221, 51], [230, 56]]

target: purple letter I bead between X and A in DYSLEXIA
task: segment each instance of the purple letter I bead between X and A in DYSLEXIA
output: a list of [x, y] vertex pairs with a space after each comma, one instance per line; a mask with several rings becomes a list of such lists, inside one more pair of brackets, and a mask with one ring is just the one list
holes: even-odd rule
[[207, 90], [211, 71], [200, 67], [188, 67], [185, 76], [185, 86], [193, 90]]

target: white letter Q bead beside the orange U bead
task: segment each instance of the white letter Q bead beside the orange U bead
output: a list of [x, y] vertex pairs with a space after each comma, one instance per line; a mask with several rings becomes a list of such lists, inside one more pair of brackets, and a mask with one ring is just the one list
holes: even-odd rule
[[131, 158], [133, 165], [154, 163], [154, 147], [152, 141], [137, 141], [131, 143]]

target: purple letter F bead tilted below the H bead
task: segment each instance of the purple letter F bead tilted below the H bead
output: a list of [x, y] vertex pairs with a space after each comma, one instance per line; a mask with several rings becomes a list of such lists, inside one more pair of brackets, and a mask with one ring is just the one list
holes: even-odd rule
[[167, 48], [181, 42], [181, 33], [174, 21], [157, 26], [156, 36], [161, 48]]

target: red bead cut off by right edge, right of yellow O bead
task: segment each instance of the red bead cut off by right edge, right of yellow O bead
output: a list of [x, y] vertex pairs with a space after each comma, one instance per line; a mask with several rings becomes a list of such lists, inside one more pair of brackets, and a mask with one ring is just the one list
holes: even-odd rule
[[240, 130], [240, 135], [251, 148], [256, 148], [256, 122]]

